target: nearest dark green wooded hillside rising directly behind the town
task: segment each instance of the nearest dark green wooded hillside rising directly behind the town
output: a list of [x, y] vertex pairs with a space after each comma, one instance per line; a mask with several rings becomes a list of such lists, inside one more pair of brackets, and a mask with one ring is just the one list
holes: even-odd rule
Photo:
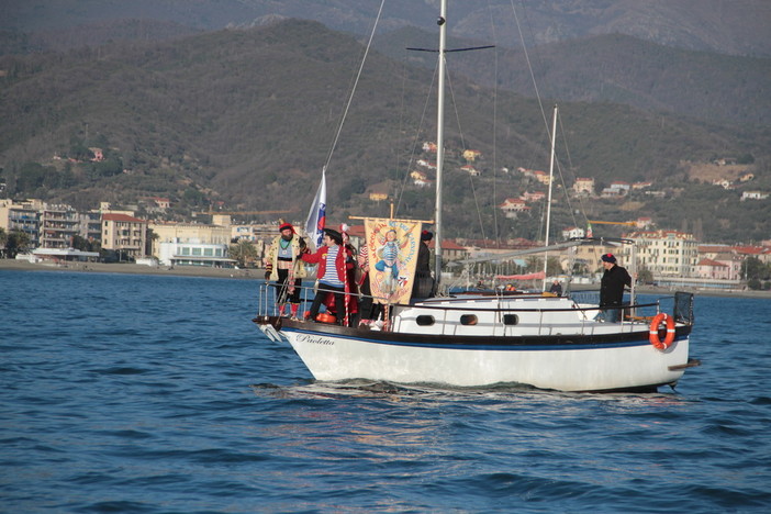
[[[102, 200], [130, 204], [163, 195], [179, 212], [221, 201], [234, 210], [293, 209], [300, 219], [335, 141], [361, 54], [351, 36], [289, 20], [169, 42], [115, 42], [63, 54], [1, 57], [4, 193], [81, 209]], [[372, 190], [396, 197], [399, 215], [432, 216], [431, 191], [405, 180], [421, 156], [415, 148], [434, 138], [435, 114], [425, 108], [435, 103], [431, 83], [428, 70], [370, 56], [329, 163], [331, 219], [386, 214], [387, 205], [368, 200]], [[513, 222], [495, 216], [494, 206], [535, 187], [500, 172], [502, 167], [543, 169], [548, 164], [538, 105], [512, 93], [493, 94], [461, 77], [452, 79], [451, 97], [449, 233], [474, 235], [481, 220], [492, 233], [537, 236], [537, 213]], [[600, 185], [652, 179], [670, 189], [671, 202], [672, 194], [688, 197], [692, 189], [686, 180], [694, 179], [680, 167], [683, 160], [752, 155], [756, 183], [768, 183], [771, 176], [768, 130], [675, 116], [662, 121], [611, 103], [565, 102], [561, 112], [570, 155], [562, 142], [559, 146], [568, 181], [574, 176], [594, 177]], [[88, 161], [89, 147], [103, 148], [105, 160]], [[476, 165], [481, 177], [459, 170], [463, 163], [457, 153], [466, 148], [482, 152]], [[720, 215], [726, 221], [715, 234], [736, 236], [746, 227], [751, 233], [742, 237], [768, 237], [764, 221], [748, 224], [738, 202], [725, 202]], [[669, 221], [677, 211], [642, 203], [639, 215], [657, 220]], [[767, 203], [753, 213], [758, 220], [768, 219]], [[689, 204], [677, 222], [709, 220], [709, 209], [718, 204]], [[563, 208], [556, 215], [570, 224], [574, 215]], [[602, 215], [624, 212], [617, 202], [599, 201], [591, 209]]]

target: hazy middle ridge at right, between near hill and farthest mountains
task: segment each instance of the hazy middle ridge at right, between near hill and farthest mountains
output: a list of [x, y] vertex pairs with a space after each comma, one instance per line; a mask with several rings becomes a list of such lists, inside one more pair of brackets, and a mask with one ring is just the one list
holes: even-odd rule
[[[402, 29], [378, 38], [378, 48], [404, 58], [406, 42], [433, 47], [435, 36]], [[451, 40], [451, 47], [472, 43]], [[560, 101], [612, 102], [682, 116], [766, 124], [771, 120], [771, 59], [677, 49], [608, 34], [528, 51], [539, 93]], [[434, 68], [433, 54], [412, 53], [412, 64]], [[523, 51], [458, 53], [451, 70], [489, 87], [527, 97], [536, 91]]]

